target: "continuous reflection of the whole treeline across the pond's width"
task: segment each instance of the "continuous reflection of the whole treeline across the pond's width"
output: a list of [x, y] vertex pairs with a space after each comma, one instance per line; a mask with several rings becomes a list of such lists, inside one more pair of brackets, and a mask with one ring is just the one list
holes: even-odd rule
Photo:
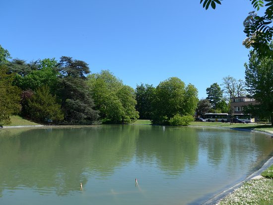
[[[151, 164], [166, 175], [181, 175], [206, 160], [232, 167], [273, 151], [273, 140], [237, 131], [162, 126], [99, 126], [81, 129], [0, 132], [0, 196], [28, 187], [40, 194], [68, 195], [90, 176], [107, 179], [117, 168]], [[255, 151], [255, 154], [253, 154]], [[205, 157], [202, 157], [202, 156]]]

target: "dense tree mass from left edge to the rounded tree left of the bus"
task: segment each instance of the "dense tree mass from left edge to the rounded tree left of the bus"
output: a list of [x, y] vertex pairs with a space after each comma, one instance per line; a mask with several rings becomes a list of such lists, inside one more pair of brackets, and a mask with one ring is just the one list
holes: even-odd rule
[[20, 114], [54, 124], [130, 123], [140, 117], [153, 124], [184, 125], [197, 107], [195, 86], [177, 77], [134, 90], [109, 70], [90, 73], [87, 63], [71, 57], [29, 63], [8, 59], [0, 47], [1, 124]]

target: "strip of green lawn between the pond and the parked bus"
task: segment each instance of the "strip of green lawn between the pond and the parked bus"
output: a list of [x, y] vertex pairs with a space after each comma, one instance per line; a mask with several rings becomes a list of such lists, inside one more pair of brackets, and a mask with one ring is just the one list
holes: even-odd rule
[[252, 123], [218, 123], [218, 122], [191, 122], [192, 126], [208, 126], [208, 127], [225, 127], [225, 128], [244, 128], [250, 130], [258, 130], [263, 132], [268, 132], [273, 134], [273, 127], [271, 125], [261, 125], [261, 124], [252, 124]]

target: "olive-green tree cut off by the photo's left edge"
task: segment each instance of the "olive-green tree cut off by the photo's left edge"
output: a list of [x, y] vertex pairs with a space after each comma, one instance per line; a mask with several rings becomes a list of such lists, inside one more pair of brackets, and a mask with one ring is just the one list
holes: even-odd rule
[[0, 65], [0, 124], [10, 123], [10, 116], [20, 109], [20, 89], [12, 86], [14, 74], [6, 74], [7, 68]]

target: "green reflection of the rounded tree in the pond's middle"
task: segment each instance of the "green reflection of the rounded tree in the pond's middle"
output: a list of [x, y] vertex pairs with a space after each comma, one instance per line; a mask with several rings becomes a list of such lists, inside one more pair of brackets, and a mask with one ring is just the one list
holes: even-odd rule
[[138, 163], [156, 160], [160, 169], [169, 175], [181, 174], [185, 166], [191, 169], [196, 165], [198, 136], [195, 129], [163, 126], [150, 128], [149, 135], [139, 134], [136, 150]]

